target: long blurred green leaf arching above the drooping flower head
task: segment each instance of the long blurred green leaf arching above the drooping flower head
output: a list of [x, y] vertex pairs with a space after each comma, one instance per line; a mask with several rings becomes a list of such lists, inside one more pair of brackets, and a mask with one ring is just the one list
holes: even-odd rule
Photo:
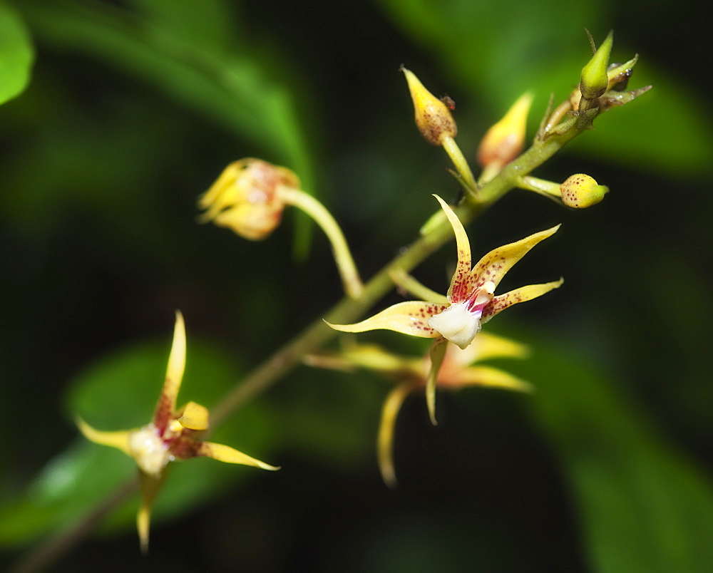
[[[151, 3], [145, 3], [147, 6]], [[153, 4], [158, 14], [160, 4]], [[193, 43], [173, 19], [141, 19], [101, 4], [29, 4], [38, 36], [63, 50], [101, 58], [257, 145], [267, 159], [285, 162], [310, 181], [312, 165], [288, 77], [254, 51]], [[186, 13], [193, 14], [193, 11]], [[237, 31], [234, 32], [237, 35]], [[201, 37], [205, 38], [205, 35]], [[278, 76], [278, 79], [275, 78]], [[257, 155], [257, 153], [256, 153]]]

